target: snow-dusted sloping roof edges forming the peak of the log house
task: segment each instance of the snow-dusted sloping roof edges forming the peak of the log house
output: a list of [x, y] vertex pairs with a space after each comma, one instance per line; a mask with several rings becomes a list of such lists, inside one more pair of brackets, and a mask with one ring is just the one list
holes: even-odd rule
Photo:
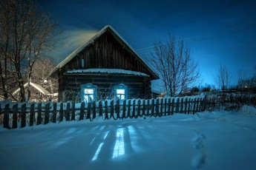
[[54, 72], [56, 72], [58, 69], [64, 67], [66, 64], [68, 64], [68, 62], [73, 59], [79, 52], [81, 52], [83, 49], [85, 49], [85, 47], [87, 47], [89, 44], [93, 43], [95, 41], [96, 38], [99, 38], [100, 35], [102, 35], [103, 33], [105, 33], [105, 31], [107, 31], [108, 29], [111, 29], [114, 34], [116, 34], [122, 41], [124, 44], [126, 44], [130, 50], [132, 52], [134, 52], [135, 55], [137, 55], [137, 57], [142, 61], [142, 64], [145, 64], [145, 67], [148, 67], [149, 71], [151, 72], [152, 75], [154, 75], [154, 77], [159, 78], [157, 72], [154, 71], [153, 68], [151, 68], [148, 63], [140, 56], [137, 54], [137, 52], [135, 52], [135, 50], [125, 41], [124, 38], [122, 38], [121, 35], [119, 35], [119, 33], [116, 32], [116, 30], [114, 30], [113, 27], [111, 27], [110, 25], [106, 25], [102, 30], [99, 31], [99, 33], [97, 33], [96, 35], [93, 36], [93, 38], [91, 38], [89, 41], [87, 41], [85, 44], [83, 44], [82, 46], [80, 46], [79, 48], [77, 48], [76, 50], [74, 50], [70, 55], [68, 55], [67, 58], [65, 58], [62, 62], [60, 62], [51, 72], [50, 75], [53, 75]]

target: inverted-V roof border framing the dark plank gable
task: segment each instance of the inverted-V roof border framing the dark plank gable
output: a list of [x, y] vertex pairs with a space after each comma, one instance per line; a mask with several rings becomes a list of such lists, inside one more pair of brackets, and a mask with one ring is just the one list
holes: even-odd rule
[[97, 38], [99, 38], [101, 35], [103, 35], [107, 30], [110, 30], [111, 34], [114, 35], [114, 38], [116, 38], [117, 41], [119, 41], [119, 44], [122, 44], [123, 47], [127, 48], [127, 50], [129, 52], [131, 52], [132, 55], [134, 55], [138, 61], [140, 61], [140, 63], [142, 63], [142, 65], [148, 70], [148, 72], [151, 73], [152, 78], [154, 79], [158, 79], [159, 76], [157, 75], [157, 72], [154, 71], [154, 69], [152, 69], [147, 62], [140, 57], [140, 55], [137, 54], [137, 52], [135, 52], [132, 47], [124, 40], [124, 38], [122, 38], [119, 33], [116, 32], [116, 30], [114, 30], [113, 27], [107, 25], [105, 26], [102, 30], [99, 31], [99, 33], [97, 33], [96, 35], [93, 36], [93, 38], [91, 38], [89, 41], [87, 41], [85, 44], [83, 44], [81, 47], [77, 48], [76, 50], [74, 50], [70, 55], [68, 55], [67, 58], [65, 58], [61, 63], [59, 63], [53, 70], [52, 72], [50, 72], [50, 75], [53, 75], [56, 73], [56, 71], [58, 69], [61, 69], [62, 67], [65, 67], [66, 64], [68, 64], [73, 58], [76, 57], [76, 55], [79, 54], [79, 52], [81, 52], [82, 50], [85, 49], [85, 47], [88, 47], [90, 44], [93, 44], [94, 41], [96, 41]]

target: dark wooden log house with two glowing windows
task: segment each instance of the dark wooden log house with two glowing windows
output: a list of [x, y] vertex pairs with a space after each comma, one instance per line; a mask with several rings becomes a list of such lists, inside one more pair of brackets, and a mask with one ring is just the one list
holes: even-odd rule
[[151, 81], [159, 76], [111, 26], [105, 26], [52, 72], [59, 101], [152, 98]]

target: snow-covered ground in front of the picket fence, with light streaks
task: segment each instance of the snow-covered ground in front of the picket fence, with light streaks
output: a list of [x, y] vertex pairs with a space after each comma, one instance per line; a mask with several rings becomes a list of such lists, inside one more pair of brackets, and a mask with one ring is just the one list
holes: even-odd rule
[[256, 169], [256, 109], [0, 127], [0, 169]]

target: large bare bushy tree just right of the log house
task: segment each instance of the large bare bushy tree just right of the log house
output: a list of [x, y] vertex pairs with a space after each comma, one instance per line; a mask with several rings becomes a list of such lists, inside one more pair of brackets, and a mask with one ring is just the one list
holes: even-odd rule
[[177, 41], [171, 33], [165, 43], [161, 39], [154, 42], [154, 52], [148, 61], [160, 74], [171, 96], [180, 95], [200, 78], [200, 69], [191, 57], [190, 47], [183, 39]]

